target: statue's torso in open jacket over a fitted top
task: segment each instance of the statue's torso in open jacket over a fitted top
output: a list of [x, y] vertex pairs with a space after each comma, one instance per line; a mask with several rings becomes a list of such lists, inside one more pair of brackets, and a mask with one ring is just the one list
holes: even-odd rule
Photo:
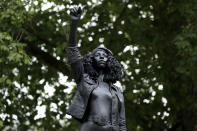
[[[123, 96], [118, 88], [83, 74], [67, 112], [81, 120], [79, 131], [109, 131], [112, 128], [119, 131], [122, 102]], [[96, 130], [98, 127], [100, 129]]]

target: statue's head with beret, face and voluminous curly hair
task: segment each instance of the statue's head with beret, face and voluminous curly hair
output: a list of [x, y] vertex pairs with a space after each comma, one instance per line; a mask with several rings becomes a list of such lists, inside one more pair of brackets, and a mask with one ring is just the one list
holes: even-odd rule
[[104, 81], [116, 82], [122, 76], [121, 65], [113, 57], [113, 53], [105, 47], [97, 47], [90, 54], [84, 56], [84, 71], [93, 79], [98, 78], [99, 70], [105, 73]]

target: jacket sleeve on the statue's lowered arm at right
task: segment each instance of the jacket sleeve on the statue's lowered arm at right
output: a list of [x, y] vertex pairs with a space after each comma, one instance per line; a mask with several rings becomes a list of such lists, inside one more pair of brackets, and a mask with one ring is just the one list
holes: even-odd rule
[[[122, 93], [121, 93], [122, 94]], [[119, 119], [120, 131], [126, 131], [126, 117], [125, 117], [125, 104], [124, 96], [122, 94], [121, 107], [120, 107], [120, 119]]]

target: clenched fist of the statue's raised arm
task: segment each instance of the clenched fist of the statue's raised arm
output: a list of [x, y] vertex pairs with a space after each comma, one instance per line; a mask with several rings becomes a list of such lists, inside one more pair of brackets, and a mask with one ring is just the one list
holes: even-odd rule
[[74, 7], [70, 12], [71, 20], [80, 20], [81, 14], [81, 7]]

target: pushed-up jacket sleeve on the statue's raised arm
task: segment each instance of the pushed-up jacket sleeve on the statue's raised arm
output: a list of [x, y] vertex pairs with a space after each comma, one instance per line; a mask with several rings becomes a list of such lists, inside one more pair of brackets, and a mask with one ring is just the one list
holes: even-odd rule
[[71, 65], [72, 74], [77, 84], [80, 82], [84, 72], [82, 58], [76, 46], [68, 47], [68, 64]]

